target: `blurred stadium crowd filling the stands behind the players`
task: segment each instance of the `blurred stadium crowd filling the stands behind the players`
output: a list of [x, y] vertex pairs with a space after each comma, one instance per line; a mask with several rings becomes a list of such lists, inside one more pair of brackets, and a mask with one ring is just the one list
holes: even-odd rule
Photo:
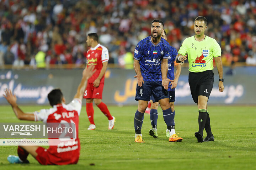
[[255, 0], [0, 0], [0, 66], [86, 62], [86, 36], [96, 32], [109, 63], [133, 63], [135, 45], [165, 23], [177, 50], [194, 34], [194, 18], [208, 19], [206, 35], [222, 48], [224, 65], [256, 64]]

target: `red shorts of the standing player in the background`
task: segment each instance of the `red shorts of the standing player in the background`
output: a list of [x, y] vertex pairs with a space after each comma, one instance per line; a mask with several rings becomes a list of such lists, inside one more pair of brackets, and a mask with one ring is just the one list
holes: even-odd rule
[[94, 87], [93, 83], [88, 83], [85, 90], [84, 98], [99, 98], [102, 99], [104, 84], [100, 83], [98, 87]]

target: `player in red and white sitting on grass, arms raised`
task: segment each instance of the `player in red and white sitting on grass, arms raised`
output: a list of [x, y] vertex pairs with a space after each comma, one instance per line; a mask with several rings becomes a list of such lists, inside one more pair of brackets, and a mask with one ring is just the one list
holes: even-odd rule
[[[87, 70], [84, 69], [82, 73], [82, 80], [78, 86], [74, 99], [69, 104], [65, 104], [65, 98], [63, 97], [60, 89], [53, 89], [48, 94], [49, 103], [53, 108], [42, 109], [32, 114], [24, 113], [16, 103], [16, 96], [12, 94], [11, 90], [5, 90], [4, 97], [6, 98], [7, 102], [11, 104], [12, 109], [18, 119], [43, 121], [44, 123], [60, 123], [63, 121], [68, 123], [74, 122], [76, 126], [76, 138], [73, 146], [50, 146], [48, 149], [39, 146], [18, 146], [18, 157], [14, 155], [9, 155], [9, 157], [7, 157], [7, 160], [10, 163], [29, 163], [27, 160], [28, 154], [31, 154], [42, 165], [67, 165], [78, 163], [80, 155], [78, 123], [82, 107], [81, 101], [82, 97], [84, 96], [87, 80], [95, 72], [93, 70], [94, 66], [88, 67]], [[74, 112], [74, 116], [64, 118], [62, 113], [68, 113], [70, 111]], [[68, 149], [69, 147], [72, 149]], [[59, 152], [60, 149], [58, 150], [58, 148], [61, 148], [61, 152]]]

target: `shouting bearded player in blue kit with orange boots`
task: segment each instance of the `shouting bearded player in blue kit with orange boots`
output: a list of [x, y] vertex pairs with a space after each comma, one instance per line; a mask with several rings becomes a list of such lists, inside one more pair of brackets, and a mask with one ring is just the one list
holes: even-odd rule
[[[169, 103], [168, 86], [173, 82], [167, 78], [168, 58], [171, 56], [169, 43], [161, 38], [164, 33], [164, 23], [154, 19], [151, 24], [151, 36], [141, 40], [134, 51], [134, 70], [137, 74], [137, 88], [135, 100], [139, 102], [134, 116], [135, 142], [144, 143], [141, 129], [144, 113], [150, 101], [159, 102], [167, 129], [171, 133], [174, 130], [174, 113]], [[171, 83], [172, 84], [172, 83]], [[181, 142], [183, 139], [177, 135], [169, 138], [169, 142]]]

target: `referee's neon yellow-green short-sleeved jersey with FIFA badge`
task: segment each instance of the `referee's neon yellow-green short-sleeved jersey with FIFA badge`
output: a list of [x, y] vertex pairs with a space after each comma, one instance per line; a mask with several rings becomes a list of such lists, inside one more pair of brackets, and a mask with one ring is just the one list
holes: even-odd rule
[[178, 51], [188, 55], [189, 71], [198, 73], [213, 69], [213, 57], [221, 56], [218, 42], [206, 36], [203, 41], [196, 41], [194, 36], [186, 38]]

